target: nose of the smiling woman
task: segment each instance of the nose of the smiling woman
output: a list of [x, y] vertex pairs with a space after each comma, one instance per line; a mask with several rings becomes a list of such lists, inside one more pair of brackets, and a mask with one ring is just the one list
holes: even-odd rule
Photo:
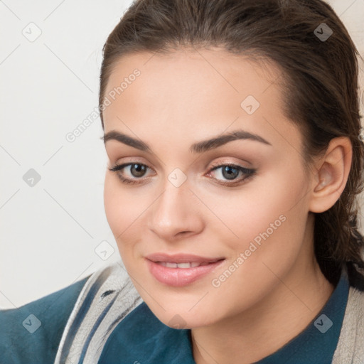
[[148, 228], [165, 241], [198, 234], [203, 230], [202, 207], [188, 183], [176, 187], [166, 181], [164, 192], [149, 209]]

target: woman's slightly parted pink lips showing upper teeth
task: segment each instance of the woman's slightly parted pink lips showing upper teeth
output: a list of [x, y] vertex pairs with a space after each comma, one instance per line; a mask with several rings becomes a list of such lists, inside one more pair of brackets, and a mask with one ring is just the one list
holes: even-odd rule
[[165, 255], [157, 253], [146, 257], [149, 272], [167, 286], [183, 287], [196, 282], [223, 264], [225, 258], [208, 258], [197, 255]]

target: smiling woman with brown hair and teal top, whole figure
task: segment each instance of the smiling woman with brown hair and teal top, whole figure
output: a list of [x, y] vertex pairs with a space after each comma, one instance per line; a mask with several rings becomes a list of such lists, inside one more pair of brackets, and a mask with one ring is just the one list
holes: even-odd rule
[[322, 0], [134, 2], [100, 75], [124, 264], [4, 311], [4, 363], [363, 363], [356, 56]]

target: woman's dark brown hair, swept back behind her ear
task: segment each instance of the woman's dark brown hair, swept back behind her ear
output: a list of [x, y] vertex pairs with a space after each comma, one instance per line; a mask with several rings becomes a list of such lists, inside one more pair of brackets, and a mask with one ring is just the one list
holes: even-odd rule
[[[331, 29], [329, 38], [319, 38], [323, 29], [326, 34]], [[364, 289], [359, 273], [364, 268], [364, 239], [358, 231], [356, 200], [364, 179], [359, 53], [331, 6], [322, 0], [134, 1], [103, 48], [102, 127], [105, 87], [119, 58], [129, 53], [168, 53], [184, 45], [220, 47], [235, 55], [275, 61], [283, 71], [284, 112], [304, 137], [305, 167], [326, 151], [334, 137], [350, 138], [353, 160], [348, 183], [332, 208], [315, 214], [314, 247], [330, 282], [336, 284], [346, 262], [350, 284]]]

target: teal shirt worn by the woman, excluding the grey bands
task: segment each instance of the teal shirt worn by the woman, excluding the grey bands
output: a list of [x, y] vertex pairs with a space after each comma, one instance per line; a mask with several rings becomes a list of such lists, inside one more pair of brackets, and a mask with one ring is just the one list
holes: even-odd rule
[[[65, 324], [87, 278], [18, 309], [0, 311], [0, 363], [52, 364]], [[309, 326], [257, 364], [331, 363], [349, 287], [348, 277], [343, 272], [330, 299]], [[196, 364], [191, 330], [164, 325], [144, 302], [141, 303], [114, 328], [98, 364], [138, 362]]]

